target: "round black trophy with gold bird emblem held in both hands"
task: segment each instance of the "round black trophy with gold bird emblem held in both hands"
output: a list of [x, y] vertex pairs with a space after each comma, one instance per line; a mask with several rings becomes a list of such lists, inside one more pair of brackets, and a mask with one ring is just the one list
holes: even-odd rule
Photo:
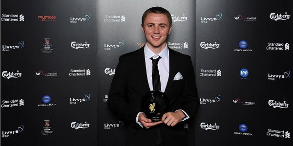
[[147, 92], [142, 100], [142, 109], [151, 122], [161, 121], [163, 114], [169, 110], [167, 95], [162, 91]]

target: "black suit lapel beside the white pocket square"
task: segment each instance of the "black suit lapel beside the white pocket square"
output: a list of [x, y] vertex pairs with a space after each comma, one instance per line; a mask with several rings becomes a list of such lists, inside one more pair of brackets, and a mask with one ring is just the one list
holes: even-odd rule
[[169, 77], [167, 86], [165, 89], [165, 93], [167, 94], [170, 90], [170, 87], [173, 83], [174, 76], [176, 75], [176, 68], [177, 68], [177, 61], [176, 61], [176, 54], [173, 50], [169, 48]]

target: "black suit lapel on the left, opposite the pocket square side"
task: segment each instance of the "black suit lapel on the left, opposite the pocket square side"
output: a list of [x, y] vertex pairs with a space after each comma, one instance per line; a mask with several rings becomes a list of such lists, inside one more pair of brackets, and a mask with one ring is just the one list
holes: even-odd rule
[[140, 76], [141, 87], [139, 87], [142, 93], [142, 96], [149, 90], [148, 82], [147, 82], [147, 75], [146, 75], [146, 60], [145, 60], [145, 52], [144, 47], [138, 50], [137, 52], [137, 73]]

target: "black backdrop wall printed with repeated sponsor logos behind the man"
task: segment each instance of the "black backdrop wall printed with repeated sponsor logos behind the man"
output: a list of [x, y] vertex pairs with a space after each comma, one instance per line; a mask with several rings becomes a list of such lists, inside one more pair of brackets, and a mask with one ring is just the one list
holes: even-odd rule
[[289, 144], [292, 5], [1, 1], [1, 145], [125, 146], [108, 91], [119, 56], [145, 44], [141, 16], [153, 6], [172, 15], [168, 46], [193, 59], [200, 108], [189, 146]]

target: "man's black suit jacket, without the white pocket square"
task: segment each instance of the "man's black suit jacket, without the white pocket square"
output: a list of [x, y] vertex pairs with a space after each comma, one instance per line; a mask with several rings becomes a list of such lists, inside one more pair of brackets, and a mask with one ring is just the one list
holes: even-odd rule
[[[178, 72], [183, 79], [174, 81]], [[148, 91], [144, 47], [120, 56], [107, 104], [129, 124], [126, 146], [154, 146], [157, 128], [160, 128], [165, 146], [186, 145], [186, 131], [182, 122], [175, 127], [160, 124], [149, 129], [141, 128], [136, 123], [136, 116], [142, 111], [142, 98]], [[170, 102], [170, 111], [184, 110], [190, 117], [195, 115], [199, 100], [190, 56], [169, 49], [169, 77], [165, 93]]]

